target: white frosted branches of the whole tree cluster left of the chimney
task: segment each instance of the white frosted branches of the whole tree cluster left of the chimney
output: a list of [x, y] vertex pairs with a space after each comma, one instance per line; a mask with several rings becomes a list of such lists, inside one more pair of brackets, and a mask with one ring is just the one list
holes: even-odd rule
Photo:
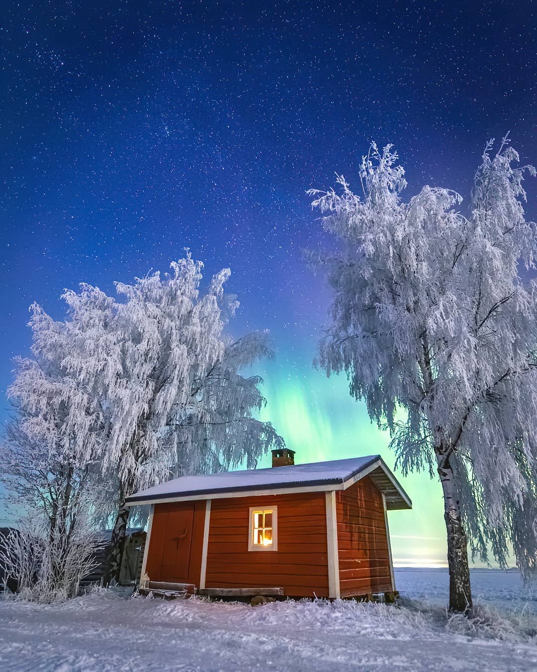
[[164, 278], [116, 283], [120, 300], [88, 284], [67, 290], [64, 322], [33, 306], [35, 359], [19, 362], [11, 388], [25, 409], [13, 431], [31, 439], [23, 452], [32, 444], [50, 460], [60, 450], [104, 476], [94, 507], [103, 519], [119, 507], [115, 570], [127, 495], [183, 474], [252, 468], [283, 446], [271, 423], [253, 415], [265, 403], [261, 379], [240, 374], [272, 356], [268, 334], [234, 340], [224, 331], [238, 307], [224, 292], [230, 271], [202, 294], [200, 262], [187, 253], [171, 267]]

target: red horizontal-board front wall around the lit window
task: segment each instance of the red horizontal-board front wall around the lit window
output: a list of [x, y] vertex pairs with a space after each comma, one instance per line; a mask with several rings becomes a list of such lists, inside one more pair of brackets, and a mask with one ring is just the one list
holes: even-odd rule
[[[250, 507], [278, 507], [278, 550], [248, 551]], [[328, 597], [325, 495], [213, 499], [207, 588], [283, 587], [293, 597]]]

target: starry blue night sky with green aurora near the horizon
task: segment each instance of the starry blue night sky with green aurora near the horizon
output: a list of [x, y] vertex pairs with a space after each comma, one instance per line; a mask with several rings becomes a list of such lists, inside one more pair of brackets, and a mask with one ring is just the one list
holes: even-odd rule
[[[80, 6], [77, 6], [80, 5]], [[529, 1], [3, 3], [0, 25], [0, 417], [28, 306], [62, 317], [63, 288], [113, 292], [189, 247], [231, 267], [232, 329], [269, 328], [263, 412], [297, 460], [381, 452], [389, 439], [311, 368], [330, 296], [301, 259], [331, 245], [308, 187], [351, 185], [369, 141], [393, 142], [407, 198], [469, 196], [490, 137], [537, 163]], [[528, 214], [537, 215], [528, 183]], [[403, 480], [399, 564], [443, 562], [442, 502]]]

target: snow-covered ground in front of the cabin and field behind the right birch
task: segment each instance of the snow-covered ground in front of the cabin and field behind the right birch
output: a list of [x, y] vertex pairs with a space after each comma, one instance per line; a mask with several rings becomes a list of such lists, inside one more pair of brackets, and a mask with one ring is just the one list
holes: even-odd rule
[[[488, 605], [480, 626], [446, 618], [445, 571], [399, 570], [396, 581], [400, 608], [353, 601], [254, 608], [112, 591], [55, 606], [1, 601], [0, 669], [537, 669], [536, 603], [517, 573], [473, 572], [476, 595]], [[497, 599], [509, 617], [491, 612]]]

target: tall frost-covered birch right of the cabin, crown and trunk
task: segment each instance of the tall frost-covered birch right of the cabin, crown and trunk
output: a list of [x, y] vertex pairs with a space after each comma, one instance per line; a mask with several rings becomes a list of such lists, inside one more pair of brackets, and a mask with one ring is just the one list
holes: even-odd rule
[[495, 154], [487, 144], [469, 216], [448, 189], [403, 202], [391, 146], [362, 160], [363, 196], [344, 177], [337, 192], [309, 192], [342, 243], [311, 253], [334, 293], [316, 362], [346, 372], [403, 472], [438, 474], [450, 609], [463, 612], [468, 542], [501, 566], [512, 545], [524, 575], [537, 569], [536, 227], [522, 207], [523, 173], [535, 171], [516, 162], [507, 139]]

